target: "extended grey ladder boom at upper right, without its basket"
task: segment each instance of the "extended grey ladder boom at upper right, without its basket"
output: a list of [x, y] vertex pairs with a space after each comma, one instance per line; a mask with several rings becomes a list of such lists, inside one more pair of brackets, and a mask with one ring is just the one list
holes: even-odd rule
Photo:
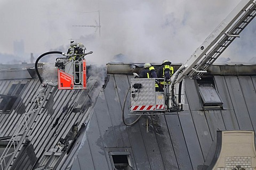
[[173, 74], [172, 83], [181, 82], [187, 75], [190, 78], [200, 78], [255, 17], [255, 2], [255, 0], [242, 0], [196, 49], [187, 62]]

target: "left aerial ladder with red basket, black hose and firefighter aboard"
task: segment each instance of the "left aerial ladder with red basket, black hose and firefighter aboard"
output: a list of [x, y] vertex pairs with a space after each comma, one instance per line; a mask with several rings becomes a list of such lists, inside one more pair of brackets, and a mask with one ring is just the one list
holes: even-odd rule
[[[79, 51], [79, 49], [81, 50]], [[29, 101], [27, 112], [23, 114], [22, 120], [17, 125], [9, 143], [0, 157], [0, 166], [2, 169], [11, 169], [22, 147], [29, 141], [30, 133], [34, 128], [36, 120], [42, 113], [42, 109], [57, 84], [59, 90], [86, 89], [86, 61], [84, 56], [92, 54], [93, 52], [85, 53], [85, 49], [83, 44], [74, 43], [73, 41], [70, 44], [68, 54], [58, 51], [46, 52], [37, 58], [35, 70], [41, 82], [41, 86]], [[58, 67], [58, 82], [43, 81], [38, 71], [38, 61], [43, 56], [50, 54], [61, 54], [65, 56], [57, 58], [55, 62], [55, 66]]]

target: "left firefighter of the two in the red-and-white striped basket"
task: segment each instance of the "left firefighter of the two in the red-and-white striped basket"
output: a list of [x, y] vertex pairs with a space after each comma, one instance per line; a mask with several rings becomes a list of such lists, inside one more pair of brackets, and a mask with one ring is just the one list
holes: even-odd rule
[[[150, 63], [145, 63], [143, 70], [140, 72], [140, 74], [135, 75], [136, 78], [157, 78], [156, 70], [154, 66], [152, 66]], [[157, 80], [156, 80], [157, 81]], [[158, 83], [155, 83], [156, 91], [158, 91]]]

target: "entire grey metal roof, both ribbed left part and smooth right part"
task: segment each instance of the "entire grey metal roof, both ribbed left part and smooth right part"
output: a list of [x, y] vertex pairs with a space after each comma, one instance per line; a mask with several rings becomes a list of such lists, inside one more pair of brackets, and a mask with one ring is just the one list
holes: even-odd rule
[[[242, 65], [244, 70], [238, 69], [238, 65], [224, 65], [210, 71], [223, 109], [205, 109], [196, 81], [186, 79], [188, 111], [142, 116], [133, 126], [125, 126], [124, 101], [126, 121], [137, 118], [129, 115], [130, 97], [125, 99], [133, 78], [130, 69], [134, 68], [130, 65], [121, 64], [118, 69], [111, 65], [110, 71], [108, 64], [106, 77], [106, 71], [101, 77], [95, 77], [98, 73], [91, 71], [86, 90], [50, 87], [51, 95], [12, 168], [113, 169], [112, 155], [129, 153], [134, 169], [206, 169], [214, 158], [217, 131], [255, 131], [255, 65]], [[124, 69], [122, 74], [118, 73], [122, 67], [128, 72]], [[220, 74], [230, 70], [234, 72]], [[0, 80], [0, 94], [17, 97], [11, 109], [0, 114], [0, 137], [13, 134], [39, 85], [37, 78], [23, 78], [19, 74], [15, 79]], [[67, 154], [67, 150], [58, 148], [57, 142], [66, 137], [75, 123], [81, 134]], [[6, 138], [0, 138], [2, 145], [6, 145]]]

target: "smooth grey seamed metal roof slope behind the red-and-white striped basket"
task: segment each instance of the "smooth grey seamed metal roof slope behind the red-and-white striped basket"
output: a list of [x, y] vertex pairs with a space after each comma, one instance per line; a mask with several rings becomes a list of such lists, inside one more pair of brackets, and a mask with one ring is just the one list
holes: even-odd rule
[[[236, 66], [218, 67], [230, 71], [237, 70]], [[223, 109], [204, 109], [197, 83], [186, 79], [188, 111], [178, 115], [142, 116], [137, 124], [128, 127], [122, 122], [122, 107], [132, 76], [108, 74], [109, 82], [95, 104], [84, 146], [72, 169], [112, 169], [109, 153], [113, 151], [129, 151], [134, 169], [206, 169], [214, 158], [217, 131], [255, 131], [255, 65], [246, 70], [251, 70], [251, 75], [243, 72], [214, 75]], [[137, 117], [128, 115], [129, 103], [127, 97], [126, 121], [132, 122]]]

